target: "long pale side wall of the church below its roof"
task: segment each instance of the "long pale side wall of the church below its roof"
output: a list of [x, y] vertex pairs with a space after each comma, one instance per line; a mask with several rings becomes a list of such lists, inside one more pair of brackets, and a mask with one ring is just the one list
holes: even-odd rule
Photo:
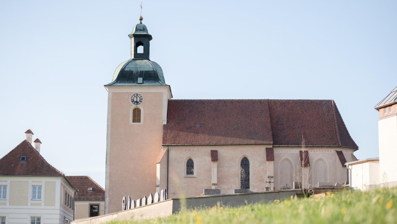
[[[233, 193], [240, 186], [240, 162], [247, 157], [250, 163], [250, 190], [265, 191], [268, 173], [274, 170], [276, 189], [294, 181], [302, 182], [300, 147], [273, 147], [275, 161], [268, 171], [266, 151], [263, 146], [169, 146], [168, 198], [195, 197], [203, 189], [211, 189], [211, 150], [218, 150], [217, 188], [222, 194]], [[347, 181], [347, 169], [339, 161], [335, 150], [343, 151], [348, 162], [352, 160], [353, 149], [339, 147], [306, 148], [309, 151], [310, 167], [306, 169], [304, 183], [317, 185], [318, 182], [341, 183]], [[165, 175], [165, 155], [161, 160], [162, 177]], [[186, 161], [194, 162], [194, 175], [187, 176]], [[164, 164], [164, 166], [163, 166]], [[308, 177], [307, 177], [308, 176]], [[166, 178], [160, 177], [161, 188], [167, 188]]]

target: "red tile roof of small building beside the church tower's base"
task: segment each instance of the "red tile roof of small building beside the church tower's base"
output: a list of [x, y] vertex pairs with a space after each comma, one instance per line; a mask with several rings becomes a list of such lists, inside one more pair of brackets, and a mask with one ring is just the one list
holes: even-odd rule
[[[66, 176], [68, 181], [78, 189], [75, 201], [105, 201], [105, 190], [89, 176]], [[92, 191], [88, 188], [92, 187]]]

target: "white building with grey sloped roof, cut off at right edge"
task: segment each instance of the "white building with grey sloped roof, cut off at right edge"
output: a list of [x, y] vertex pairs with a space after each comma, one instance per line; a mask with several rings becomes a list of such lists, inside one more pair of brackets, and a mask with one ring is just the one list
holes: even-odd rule
[[375, 109], [379, 110], [379, 181], [381, 186], [397, 186], [397, 87]]

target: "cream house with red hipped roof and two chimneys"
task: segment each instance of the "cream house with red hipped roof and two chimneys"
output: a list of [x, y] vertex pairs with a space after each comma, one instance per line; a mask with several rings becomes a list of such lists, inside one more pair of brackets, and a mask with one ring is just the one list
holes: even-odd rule
[[40, 140], [26, 140], [0, 159], [0, 223], [69, 223], [76, 189], [40, 155]]

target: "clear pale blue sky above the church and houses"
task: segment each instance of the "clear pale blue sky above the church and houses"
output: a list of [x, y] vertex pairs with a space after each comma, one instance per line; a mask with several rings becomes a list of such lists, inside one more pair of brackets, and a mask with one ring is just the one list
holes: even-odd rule
[[[104, 187], [103, 85], [130, 58], [139, 5], [0, 2], [0, 157], [32, 129], [50, 164]], [[397, 1], [144, 1], [142, 16], [175, 99], [333, 99], [365, 159], [378, 157], [374, 106], [397, 86], [396, 11]]]

